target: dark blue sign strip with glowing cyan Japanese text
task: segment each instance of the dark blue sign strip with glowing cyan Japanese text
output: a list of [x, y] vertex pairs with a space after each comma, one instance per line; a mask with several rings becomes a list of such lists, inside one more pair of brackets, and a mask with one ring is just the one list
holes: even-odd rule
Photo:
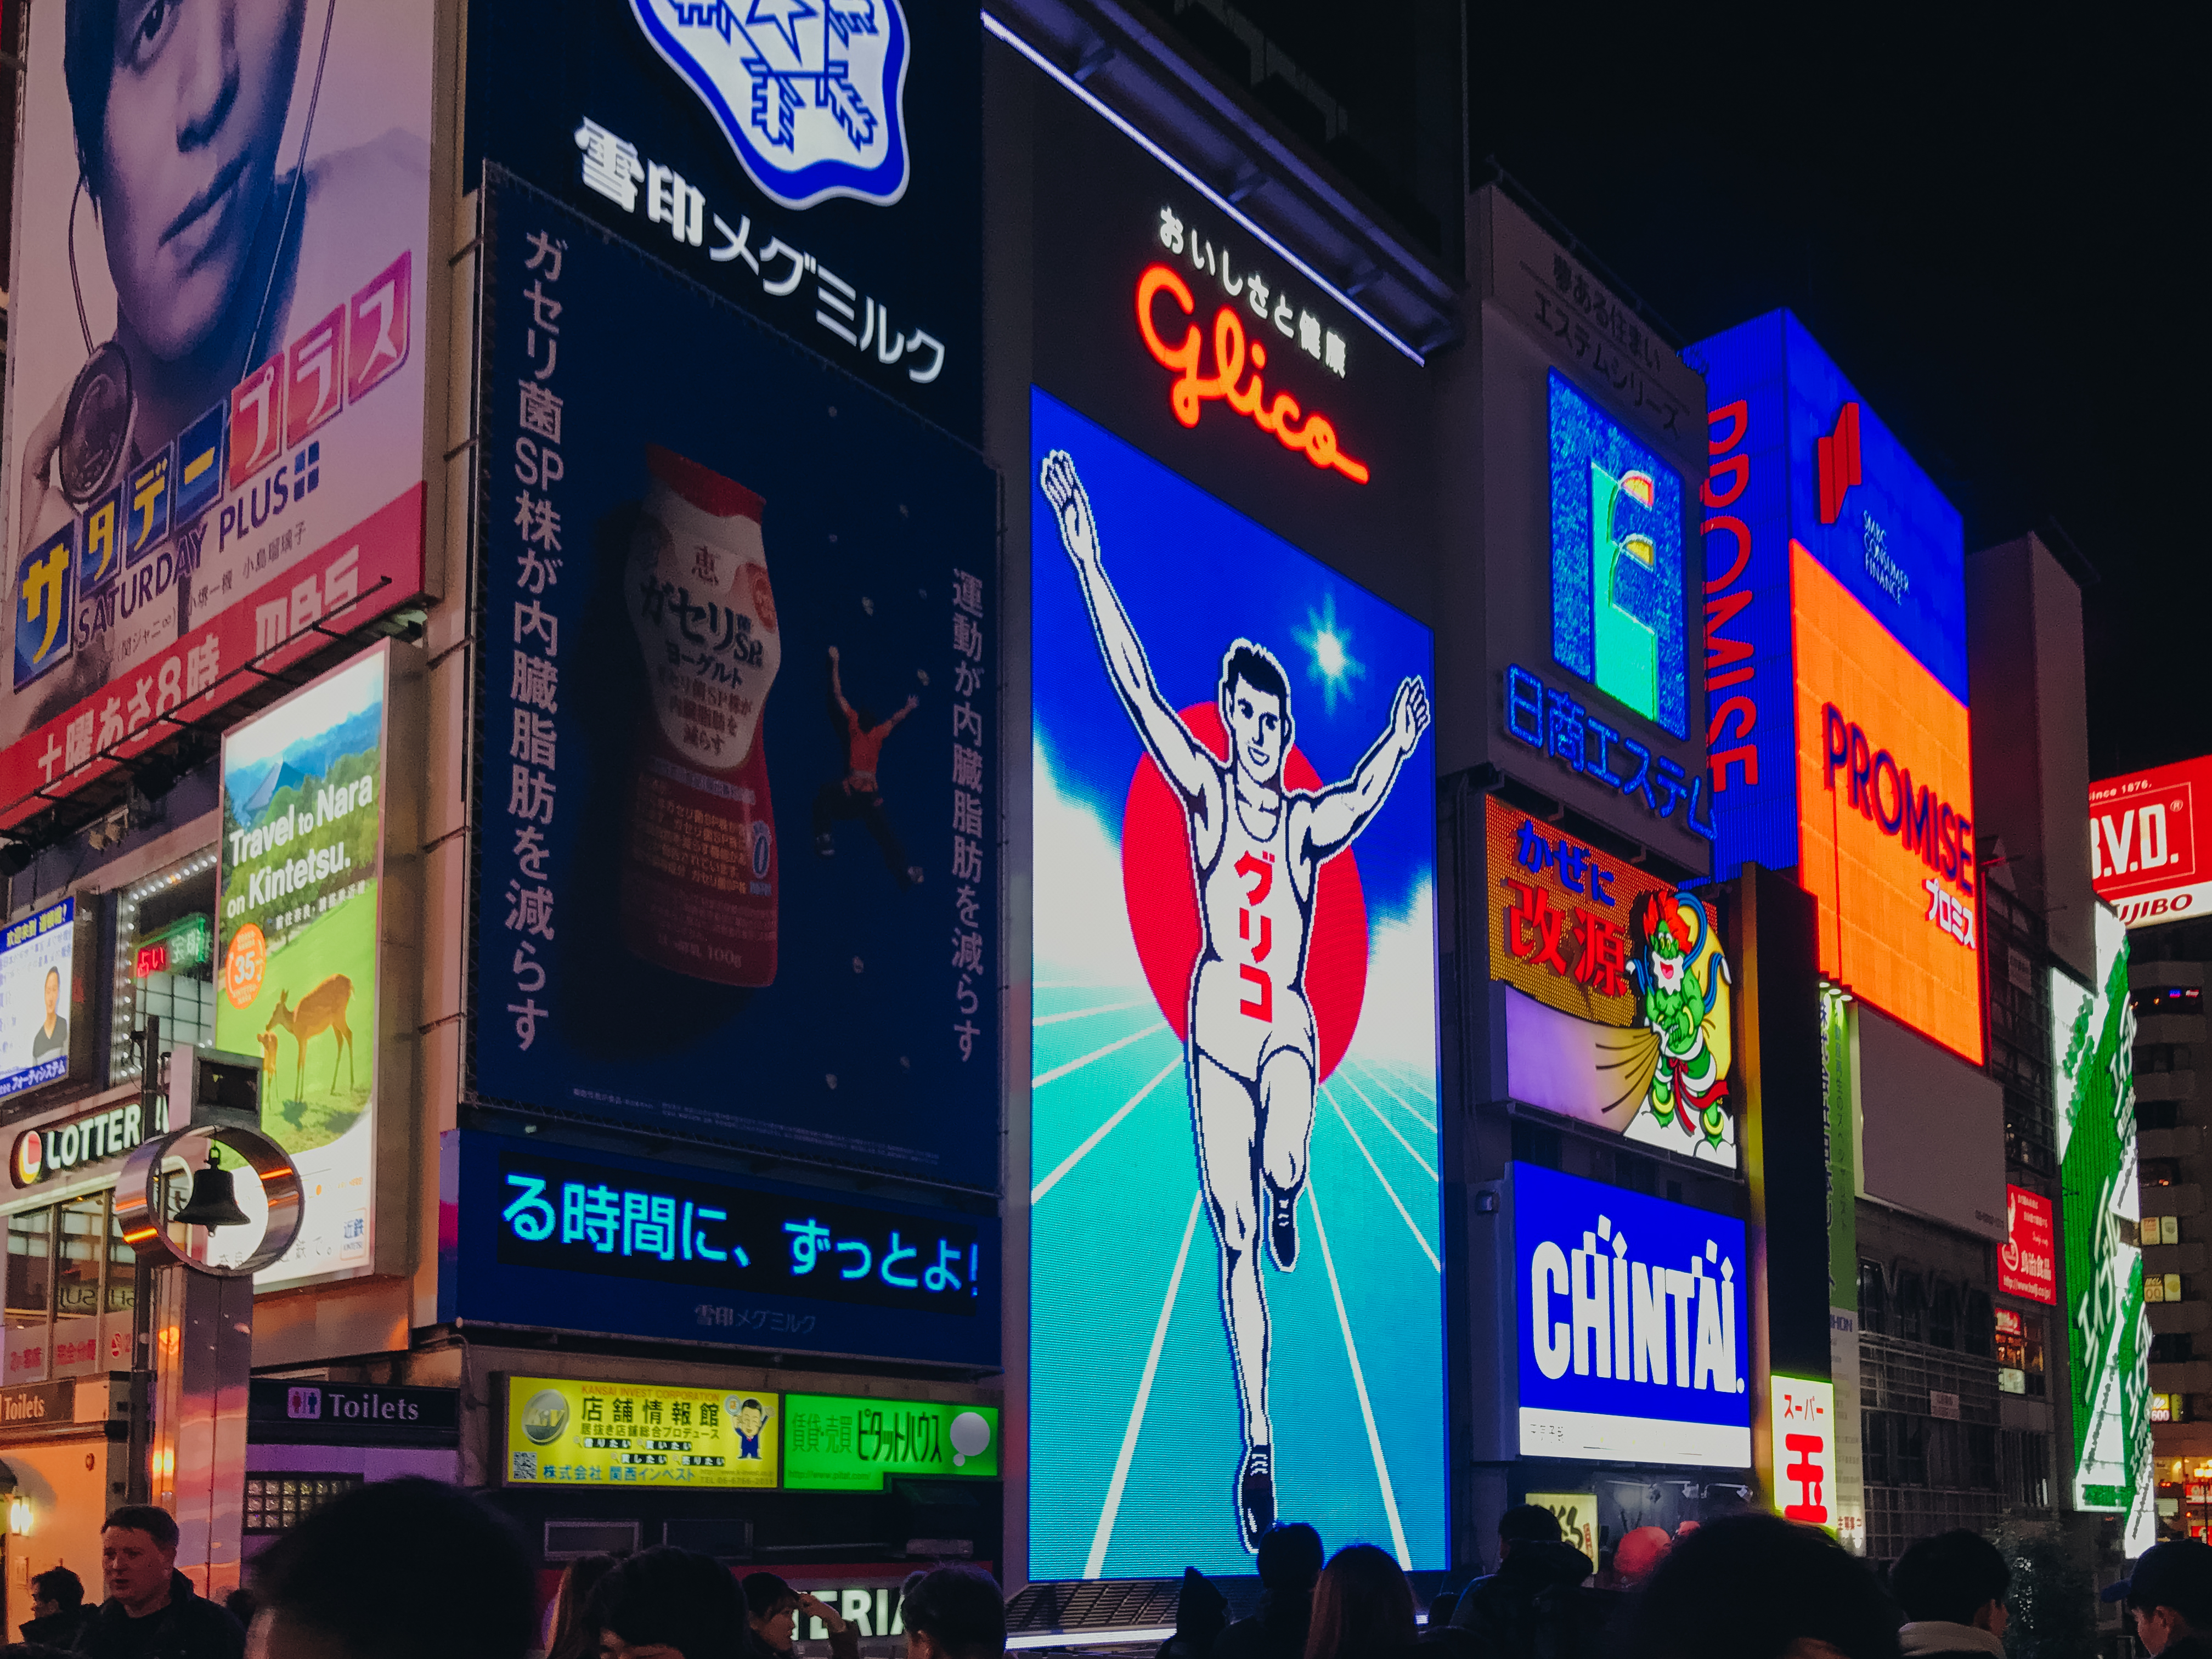
[[453, 1130], [440, 1318], [995, 1367], [995, 1212]]

